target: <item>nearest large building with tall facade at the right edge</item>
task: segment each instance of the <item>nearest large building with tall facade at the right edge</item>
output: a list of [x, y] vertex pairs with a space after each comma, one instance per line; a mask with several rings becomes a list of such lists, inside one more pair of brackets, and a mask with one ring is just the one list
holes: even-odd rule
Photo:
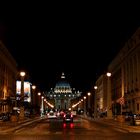
[[140, 114], [140, 28], [125, 43], [108, 69], [112, 73], [112, 102], [117, 106], [117, 113]]

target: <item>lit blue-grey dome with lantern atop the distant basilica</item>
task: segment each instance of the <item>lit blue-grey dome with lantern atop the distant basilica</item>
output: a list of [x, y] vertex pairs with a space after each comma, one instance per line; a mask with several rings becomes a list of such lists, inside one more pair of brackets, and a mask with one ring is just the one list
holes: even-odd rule
[[55, 93], [72, 93], [70, 84], [65, 80], [65, 75], [62, 73], [61, 80], [56, 83], [54, 88]]

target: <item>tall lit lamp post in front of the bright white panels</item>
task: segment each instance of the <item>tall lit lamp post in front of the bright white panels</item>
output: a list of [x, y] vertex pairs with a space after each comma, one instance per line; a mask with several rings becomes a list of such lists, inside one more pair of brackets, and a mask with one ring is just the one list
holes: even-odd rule
[[25, 77], [25, 72], [20, 72], [21, 76], [21, 98], [20, 98], [20, 114], [19, 118], [22, 120], [24, 119], [24, 77]]

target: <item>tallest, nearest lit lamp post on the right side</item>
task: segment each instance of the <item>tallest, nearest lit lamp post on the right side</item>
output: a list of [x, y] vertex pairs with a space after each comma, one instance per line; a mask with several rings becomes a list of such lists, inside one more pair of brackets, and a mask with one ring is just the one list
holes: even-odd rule
[[111, 109], [111, 73], [107, 72], [107, 118], [112, 118], [112, 109]]

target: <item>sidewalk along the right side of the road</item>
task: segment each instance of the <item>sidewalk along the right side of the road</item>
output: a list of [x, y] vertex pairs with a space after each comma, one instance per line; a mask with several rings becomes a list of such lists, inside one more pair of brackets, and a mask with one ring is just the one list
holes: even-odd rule
[[130, 125], [130, 122], [123, 122], [122, 123], [122, 122], [119, 122], [119, 121], [114, 120], [114, 119], [107, 119], [107, 118], [94, 119], [94, 118], [87, 117], [87, 116], [80, 116], [80, 117], [82, 117], [84, 119], [91, 120], [91, 121], [98, 121], [101, 123], [106, 123], [108, 125], [112, 125], [115, 128], [122, 129], [123, 131], [126, 131], [126, 132], [140, 133], [140, 126], [132, 126], [132, 125]]

